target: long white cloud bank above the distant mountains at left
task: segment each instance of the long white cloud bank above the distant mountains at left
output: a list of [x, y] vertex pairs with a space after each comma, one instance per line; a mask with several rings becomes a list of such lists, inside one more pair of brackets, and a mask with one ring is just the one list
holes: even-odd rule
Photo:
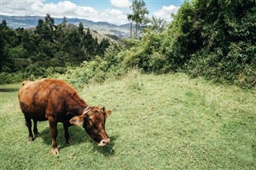
[[4, 15], [39, 15], [50, 14], [54, 18], [84, 18], [94, 22], [110, 22], [116, 25], [127, 23], [126, 13], [121, 10], [98, 11], [90, 6], [78, 6], [70, 1], [46, 3], [44, 0], [3, 1], [1, 14]]

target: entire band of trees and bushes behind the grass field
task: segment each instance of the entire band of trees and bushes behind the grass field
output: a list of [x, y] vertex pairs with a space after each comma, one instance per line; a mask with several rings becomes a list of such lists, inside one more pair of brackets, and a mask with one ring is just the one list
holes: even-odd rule
[[132, 14], [127, 14], [131, 38], [113, 43], [92, 38], [82, 22], [70, 27], [63, 18], [56, 26], [50, 14], [29, 30], [14, 30], [2, 21], [0, 84], [58, 77], [82, 87], [139, 69], [142, 73], [183, 72], [242, 88], [255, 86], [254, 0], [185, 1], [167, 24], [147, 18], [145, 2], [134, 2]]

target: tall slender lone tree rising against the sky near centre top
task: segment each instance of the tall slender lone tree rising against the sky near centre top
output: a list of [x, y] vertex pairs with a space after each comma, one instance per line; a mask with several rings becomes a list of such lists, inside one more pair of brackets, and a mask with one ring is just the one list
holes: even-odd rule
[[146, 3], [143, 0], [133, 0], [130, 10], [132, 14], [127, 14], [127, 19], [130, 21], [130, 37], [138, 38], [139, 34], [141, 34], [142, 27], [150, 22], [147, 17], [149, 10], [147, 10]]

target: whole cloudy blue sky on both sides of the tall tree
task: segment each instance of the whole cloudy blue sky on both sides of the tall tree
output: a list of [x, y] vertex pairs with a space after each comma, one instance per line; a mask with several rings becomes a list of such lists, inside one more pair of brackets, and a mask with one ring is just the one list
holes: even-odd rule
[[[144, 0], [149, 17], [171, 21], [184, 0]], [[128, 23], [132, 0], [0, 0], [0, 14], [80, 18], [115, 25]]]

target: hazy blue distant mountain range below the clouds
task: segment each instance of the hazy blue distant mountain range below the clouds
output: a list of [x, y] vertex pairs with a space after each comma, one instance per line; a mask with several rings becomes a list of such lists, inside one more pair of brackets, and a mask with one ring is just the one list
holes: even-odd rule
[[[7, 26], [17, 29], [18, 27], [22, 28], [33, 28], [38, 26], [38, 19], [44, 20], [45, 17], [42, 16], [6, 16], [0, 15], [2, 20], [6, 20]], [[82, 22], [84, 28], [90, 28], [90, 30], [95, 30], [98, 34], [106, 36], [114, 36], [118, 38], [128, 38], [130, 36], [130, 24], [125, 24], [122, 26], [116, 26], [109, 22], [93, 22], [87, 19], [79, 18], [66, 18], [67, 23], [74, 24], [75, 26], [79, 25], [79, 22]], [[63, 21], [63, 18], [54, 18], [54, 24], [58, 25]]]

